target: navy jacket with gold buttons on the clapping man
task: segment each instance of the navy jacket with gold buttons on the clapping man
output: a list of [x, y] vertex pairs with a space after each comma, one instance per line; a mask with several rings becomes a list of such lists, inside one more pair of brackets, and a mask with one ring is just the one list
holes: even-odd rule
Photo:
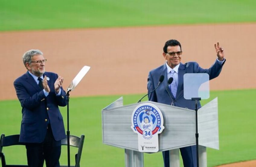
[[66, 92], [61, 88], [61, 95], [56, 96], [54, 82], [58, 75], [50, 72], [45, 72], [43, 76], [45, 75], [50, 78], [50, 93], [47, 97], [28, 72], [14, 81], [14, 88], [22, 107], [20, 142], [43, 142], [49, 121], [56, 141], [66, 137], [58, 107], [66, 106]]

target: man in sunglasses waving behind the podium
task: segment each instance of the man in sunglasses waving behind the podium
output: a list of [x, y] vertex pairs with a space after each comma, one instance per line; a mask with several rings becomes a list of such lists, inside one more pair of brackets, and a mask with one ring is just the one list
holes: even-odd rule
[[[184, 99], [183, 75], [185, 73], [208, 73], [210, 79], [219, 76], [222, 66], [226, 61], [224, 58], [224, 49], [219, 46], [219, 42], [215, 44], [217, 59], [209, 69], [201, 68], [196, 62], [181, 63], [182, 50], [181, 44], [175, 39], [168, 40], [163, 48], [163, 57], [166, 63], [153, 69], [148, 76], [148, 92], [153, 91], [159, 82], [161, 75], [165, 76], [164, 81], [159, 85], [158, 89], [148, 95], [149, 101], [174, 105], [178, 107], [195, 109], [195, 102]], [[169, 85], [168, 92], [166, 90], [167, 81], [173, 77], [173, 82]], [[200, 108], [200, 103], [198, 108]], [[196, 146], [180, 148], [184, 167], [196, 167]], [[163, 151], [164, 166], [170, 166], [169, 151]]]

